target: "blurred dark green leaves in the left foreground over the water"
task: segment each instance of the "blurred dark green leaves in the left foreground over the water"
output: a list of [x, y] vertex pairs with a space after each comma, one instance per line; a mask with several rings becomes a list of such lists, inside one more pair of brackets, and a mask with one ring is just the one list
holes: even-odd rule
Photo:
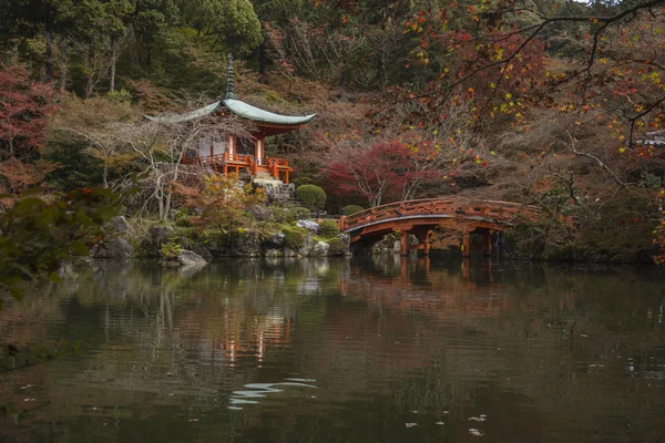
[[115, 214], [117, 196], [103, 188], [74, 189], [48, 203], [23, 193], [0, 216], [0, 308], [2, 296], [20, 300], [22, 282], [50, 275], [70, 256], [85, 256], [103, 239], [102, 225]]

